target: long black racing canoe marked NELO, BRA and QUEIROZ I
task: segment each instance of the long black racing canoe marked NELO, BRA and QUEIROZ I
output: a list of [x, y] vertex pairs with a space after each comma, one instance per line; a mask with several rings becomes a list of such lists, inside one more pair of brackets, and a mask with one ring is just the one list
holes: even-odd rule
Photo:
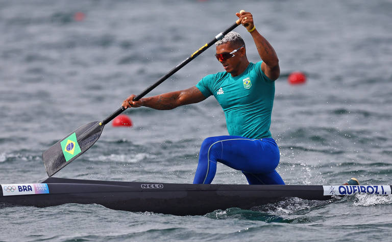
[[[203, 215], [231, 207], [251, 209], [290, 197], [329, 200], [356, 192], [389, 195], [386, 186], [226, 185], [96, 181], [47, 178], [42, 183], [2, 184], [0, 203], [48, 207], [66, 203], [101, 204], [132, 212]], [[25, 194], [29, 193], [29, 194]]]

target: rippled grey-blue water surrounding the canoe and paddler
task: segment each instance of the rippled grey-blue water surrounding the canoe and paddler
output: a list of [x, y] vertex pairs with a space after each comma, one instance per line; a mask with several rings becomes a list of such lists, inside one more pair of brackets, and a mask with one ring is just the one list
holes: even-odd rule
[[[43, 150], [101, 120], [217, 33], [239, 9], [281, 65], [271, 131], [287, 184], [391, 184], [392, 4], [389, 1], [0, 1], [2, 183], [46, 177]], [[83, 12], [83, 21], [75, 13]], [[258, 61], [250, 35], [248, 58]], [[222, 70], [204, 52], [151, 94], [195, 85]], [[305, 85], [287, 83], [290, 72]], [[57, 177], [191, 183], [200, 143], [227, 134], [213, 98], [170, 111], [126, 112]], [[245, 184], [223, 165], [213, 183]], [[204, 216], [113, 211], [100, 205], [0, 208], [0, 240], [369, 240], [392, 234], [389, 197], [289, 199]]]

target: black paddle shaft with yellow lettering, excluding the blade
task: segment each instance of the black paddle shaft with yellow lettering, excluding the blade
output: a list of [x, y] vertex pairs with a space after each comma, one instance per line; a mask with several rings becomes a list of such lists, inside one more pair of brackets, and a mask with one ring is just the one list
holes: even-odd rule
[[[192, 55], [190, 55], [188, 58], [186, 58], [183, 62], [181, 62], [179, 65], [177, 65], [176, 67], [174, 67], [173, 69], [171, 69], [166, 75], [164, 75], [163, 77], [161, 77], [156, 83], [152, 84], [151, 86], [149, 86], [148, 88], [144, 89], [139, 95], [137, 95], [133, 100], [134, 101], [138, 101], [139, 99], [143, 98], [144, 95], [146, 95], [147, 93], [149, 93], [150, 91], [152, 91], [154, 88], [156, 88], [159, 84], [161, 84], [162, 82], [164, 82], [167, 78], [169, 78], [171, 75], [175, 74], [179, 69], [181, 69], [182, 67], [184, 67], [186, 64], [188, 64], [191, 60], [193, 60], [194, 58], [196, 58], [198, 55], [202, 54], [205, 50], [207, 50], [211, 45], [213, 45], [216, 41], [222, 39], [227, 33], [229, 33], [230, 31], [234, 30], [238, 25], [240, 24], [239, 20], [237, 20], [235, 23], [233, 23], [232, 26], [230, 26], [228, 29], [226, 29], [225, 31], [219, 33], [218, 35], [215, 36], [214, 39], [212, 39], [210, 42], [206, 43], [205, 45], [203, 45], [202, 47], [200, 47], [199, 50], [195, 51]], [[124, 107], [120, 107], [119, 109], [117, 109], [115, 112], [113, 112], [112, 114], [110, 114], [109, 117], [105, 118], [102, 121], [102, 125], [106, 125], [107, 123], [109, 123], [111, 120], [113, 120], [113, 118], [115, 118], [116, 116], [118, 116], [120, 113], [124, 112], [126, 108]]]

